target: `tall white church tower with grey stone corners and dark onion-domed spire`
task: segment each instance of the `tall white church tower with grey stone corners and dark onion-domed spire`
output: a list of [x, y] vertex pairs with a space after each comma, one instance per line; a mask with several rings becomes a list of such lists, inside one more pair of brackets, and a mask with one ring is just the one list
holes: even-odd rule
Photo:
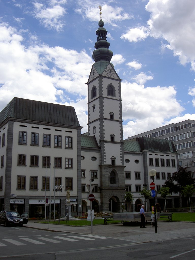
[[100, 147], [100, 210], [121, 210], [125, 196], [122, 133], [121, 79], [110, 62], [113, 52], [106, 40], [101, 17], [96, 31], [97, 42], [88, 79], [88, 134], [95, 135]]

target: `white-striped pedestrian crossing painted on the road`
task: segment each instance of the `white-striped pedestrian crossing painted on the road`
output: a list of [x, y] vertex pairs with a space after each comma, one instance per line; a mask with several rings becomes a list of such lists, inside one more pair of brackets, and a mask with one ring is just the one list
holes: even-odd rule
[[50, 235], [48, 237], [45, 236], [18, 236], [18, 237], [5, 237], [0, 240], [0, 247], [2, 246], [9, 246], [9, 245], [16, 245], [16, 246], [25, 246], [29, 243], [35, 244], [35, 245], [44, 245], [48, 243], [64, 243], [64, 242], [79, 242], [83, 240], [92, 241], [92, 240], [99, 240], [99, 239], [107, 239], [108, 237], [101, 237], [101, 236], [95, 236], [95, 235], [62, 235], [58, 234], [56, 235]]

